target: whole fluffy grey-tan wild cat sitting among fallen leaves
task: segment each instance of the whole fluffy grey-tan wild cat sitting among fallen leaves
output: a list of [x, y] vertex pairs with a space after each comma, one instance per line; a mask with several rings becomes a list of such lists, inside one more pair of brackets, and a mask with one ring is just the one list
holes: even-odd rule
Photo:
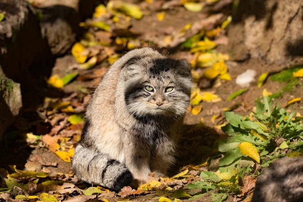
[[135, 49], [109, 69], [86, 110], [73, 170], [88, 183], [119, 190], [150, 172], [167, 175], [190, 100], [185, 61]]

